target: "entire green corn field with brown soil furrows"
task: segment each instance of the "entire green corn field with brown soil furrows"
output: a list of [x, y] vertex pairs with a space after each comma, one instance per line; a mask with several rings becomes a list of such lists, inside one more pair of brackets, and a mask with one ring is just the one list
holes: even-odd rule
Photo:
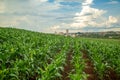
[[120, 80], [120, 40], [0, 28], [0, 80]]

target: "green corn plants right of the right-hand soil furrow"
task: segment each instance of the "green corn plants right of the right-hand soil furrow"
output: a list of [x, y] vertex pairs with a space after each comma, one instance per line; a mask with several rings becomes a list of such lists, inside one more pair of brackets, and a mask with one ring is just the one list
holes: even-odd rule
[[[119, 80], [120, 45], [119, 41], [84, 40], [84, 49], [94, 63], [94, 68], [100, 80], [105, 77]], [[115, 76], [114, 76], [115, 75]]]

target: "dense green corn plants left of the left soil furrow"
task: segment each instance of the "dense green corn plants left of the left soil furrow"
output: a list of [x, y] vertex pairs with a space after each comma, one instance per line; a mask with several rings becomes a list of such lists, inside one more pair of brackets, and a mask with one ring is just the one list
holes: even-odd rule
[[60, 76], [68, 49], [66, 41], [63, 36], [0, 28], [0, 80]]

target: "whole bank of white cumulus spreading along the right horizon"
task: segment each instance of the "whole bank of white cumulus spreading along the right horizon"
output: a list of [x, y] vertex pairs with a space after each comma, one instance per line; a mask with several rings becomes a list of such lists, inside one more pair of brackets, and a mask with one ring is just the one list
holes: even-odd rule
[[[109, 3], [117, 3], [116, 1], [112, 1]], [[120, 24], [118, 21], [118, 18], [114, 16], [108, 16], [105, 17], [104, 15], [107, 13], [106, 10], [97, 9], [91, 7], [93, 5], [93, 0], [84, 0], [82, 2], [82, 9], [80, 12], [75, 13], [75, 17], [73, 18], [73, 22], [69, 23], [68, 26], [64, 26], [64, 29], [72, 29], [72, 30], [78, 30], [78, 31], [85, 31], [87, 28], [87, 31], [94, 31], [95, 29], [109, 29], [119, 27], [118, 30], [120, 30]], [[58, 25], [57, 25], [58, 26]], [[55, 26], [53, 26], [55, 27]], [[59, 26], [59, 28], [53, 28], [53, 30], [61, 29], [62, 26]]]

